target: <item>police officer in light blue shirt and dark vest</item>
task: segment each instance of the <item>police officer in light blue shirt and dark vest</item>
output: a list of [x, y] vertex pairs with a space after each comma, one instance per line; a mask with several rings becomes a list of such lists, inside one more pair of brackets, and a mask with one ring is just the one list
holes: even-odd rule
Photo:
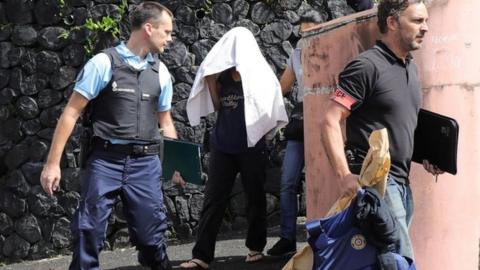
[[170, 115], [171, 76], [155, 54], [172, 40], [172, 20], [172, 13], [159, 3], [136, 6], [130, 13], [127, 43], [87, 62], [58, 121], [41, 174], [42, 187], [50, 195], [59, 187], [67, 139], [87, 104], [91, 106], [93, 150], [72, 219], [71, 270], [100, 269], [99, 253], [118, 196], [140, 264], [171, 269], [164, 236], [159, 125], [166, 137], [177, 135]]

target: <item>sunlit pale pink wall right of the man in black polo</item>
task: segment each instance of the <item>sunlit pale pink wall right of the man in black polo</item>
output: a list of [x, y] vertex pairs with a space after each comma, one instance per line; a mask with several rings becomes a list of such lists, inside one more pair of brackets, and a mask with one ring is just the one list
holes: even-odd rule
[[411, 227], [419, 269], [479, 269], [480, 237], [480, 1], [435, 1], [430, 31], [416, 52], [424, 108], [460, 125], [458, 174], [412, 170]]

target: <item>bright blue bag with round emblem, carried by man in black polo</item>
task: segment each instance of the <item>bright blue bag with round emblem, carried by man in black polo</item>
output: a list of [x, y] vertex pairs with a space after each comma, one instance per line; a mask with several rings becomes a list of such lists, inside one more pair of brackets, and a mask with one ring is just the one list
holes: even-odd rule
[[[364, 194], [360, 191], [357, 200]], [[314, 254], [312, 270], [415, 270], [408, 258], [389, 251], [380, 254], [357, 226], [356, 207], [352, 203], [334, 216], [307, 222], [308, 243]], [[386, 263], [380, 263], [379, 259]]]

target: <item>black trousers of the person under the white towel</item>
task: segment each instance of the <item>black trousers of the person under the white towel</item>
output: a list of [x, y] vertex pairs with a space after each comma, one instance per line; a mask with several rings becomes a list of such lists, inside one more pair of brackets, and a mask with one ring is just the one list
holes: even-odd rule
[[247, 201], [248, 232], [245, 245], [251, 250], [262, 251], [267, 243], [265, 151], [226, 154], [212, 147], [210, 155], [209, 177], [193, 258], [206, 263], [213, 260], [218, 230], [238, 172]]

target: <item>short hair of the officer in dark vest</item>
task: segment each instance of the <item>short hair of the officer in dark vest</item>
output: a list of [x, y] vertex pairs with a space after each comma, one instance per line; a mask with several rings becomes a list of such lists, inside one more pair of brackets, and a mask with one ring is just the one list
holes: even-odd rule
[[168, 14], [173, 19], [173, 13], [162, 4], [153, 1], [145, 1], [139, 4], [129, 15], [132, 30], [140, 29], [146, 22], [150, 22], [157, 27], [163, 13]]

